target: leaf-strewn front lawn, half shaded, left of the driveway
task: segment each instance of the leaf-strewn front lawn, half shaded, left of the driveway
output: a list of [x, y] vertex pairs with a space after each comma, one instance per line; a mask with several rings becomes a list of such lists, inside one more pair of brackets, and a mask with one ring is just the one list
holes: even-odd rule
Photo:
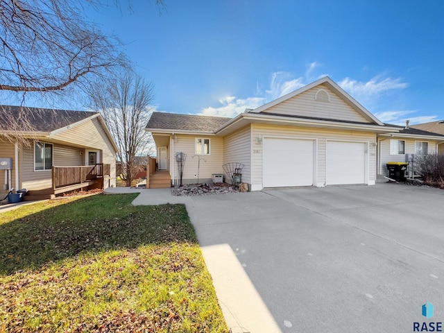
[[185, 206], [135, 196], [0, 213], [0, 332], [228, 332]]

